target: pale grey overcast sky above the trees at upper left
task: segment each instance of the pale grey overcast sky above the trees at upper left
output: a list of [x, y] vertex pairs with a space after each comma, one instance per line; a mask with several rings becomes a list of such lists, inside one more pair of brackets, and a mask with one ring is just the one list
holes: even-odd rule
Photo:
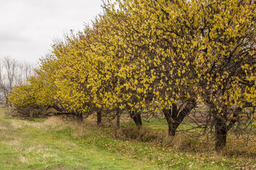
[[0, 57], [38, 62], [56, 38], [82, 30], [98, 13], [101, 0], [0, 0]]

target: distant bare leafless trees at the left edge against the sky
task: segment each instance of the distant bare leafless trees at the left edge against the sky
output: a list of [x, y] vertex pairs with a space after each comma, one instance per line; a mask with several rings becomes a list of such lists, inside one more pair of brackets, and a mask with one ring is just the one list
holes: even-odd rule
[[21, 63], [11, 57], [0, 58], [0, 101], [9, 102], [9, 93], [14, 86], [27, 84], [29, 77], [33, 76], [33, 65]]

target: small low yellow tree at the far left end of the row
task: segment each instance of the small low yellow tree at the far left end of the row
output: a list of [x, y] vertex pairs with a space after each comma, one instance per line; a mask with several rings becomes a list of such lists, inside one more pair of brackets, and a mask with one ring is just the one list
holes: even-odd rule
[[10, 100], [14, 104], [16, 111], [23, 118], [35, 118], [43, 116], [42, 112], [48, 108], [56, 108], [57, 101], [54, 96], [56, 86], [49, 79], [49, 75], [42, 70], [36, 70], [36, 76], [30, 77], [28, 83], [19, 84], [14, 87], [10, 94]]

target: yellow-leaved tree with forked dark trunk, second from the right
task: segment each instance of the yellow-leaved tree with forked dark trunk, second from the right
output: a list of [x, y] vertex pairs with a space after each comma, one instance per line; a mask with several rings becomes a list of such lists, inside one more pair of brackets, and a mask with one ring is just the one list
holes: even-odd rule
[[[170, 4], [169, 8], [177, 6]], [[195, 98], [189, 94], [193, 93], [189, 90], [191, 84], [186, 79], [192, 77], [193, 72], [186, 72], [186, 68], [193, 56], [188, 40], [180, 38], [189, 36], [186, 30], [180, 37], [169, 30], [159, 30], [165, 29], [164, 24], [176, 30], [181, 26], [176, 26], [172, 19], [165, 23], [159, 21], [159, 15], [164, 17], [164, 13], [154, 11], [158, 8], [152, 1], [117, 1], [105, 6], [109, 22], [119, 31], [119, 49], [124, 51], [120, 57], [127, 64], [124, 67], [122, 62], [119, 71], [120, 77], [125, 77], [122, 92], [127, 90], [131, 98], [127, 104], [135, 111], [145, 108], [152, 112], [164, 111], [169, 135], [175, 135], [183, 118], [196, 106]], [[175, 8], [172, 12], [178, 18], [182, 13]], [[179, 101], [183, 105], [178, 108]]]

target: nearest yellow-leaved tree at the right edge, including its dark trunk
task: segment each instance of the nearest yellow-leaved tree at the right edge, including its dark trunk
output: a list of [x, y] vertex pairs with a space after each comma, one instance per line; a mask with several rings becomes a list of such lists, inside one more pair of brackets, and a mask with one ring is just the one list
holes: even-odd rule
[[198, 92], [213, 112], [218, 150], [242, 108], [255, 106], [255, 1], [207, 2], [200, 11]]

